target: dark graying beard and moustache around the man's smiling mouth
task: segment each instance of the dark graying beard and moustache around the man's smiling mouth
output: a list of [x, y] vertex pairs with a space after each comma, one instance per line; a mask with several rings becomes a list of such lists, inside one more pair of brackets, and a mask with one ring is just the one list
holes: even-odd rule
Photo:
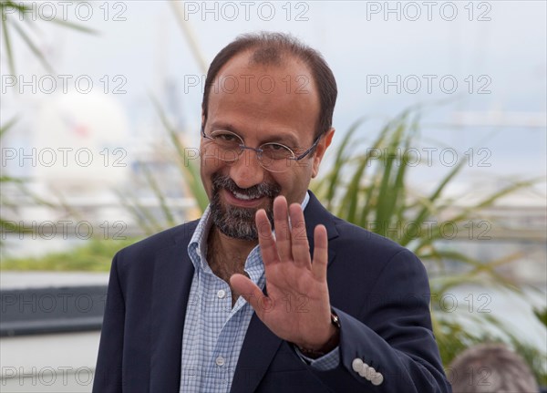
[[248, 189], [241, 189], [230, 177], [214, 174], [212, 176], [211, 217], [213, 224], [221, 233], [234, 239], [258, 240], [258, 232], [254, 222], [257, 209], [223, 205], [220, 196], [222, 189], [229, 192], [241, 192], [251, 197], [268, 197], [269, 203], [265, 211], [271, 224], [274, 225], [274, 198], [281, 191], [279, 184], [261, 183]]

